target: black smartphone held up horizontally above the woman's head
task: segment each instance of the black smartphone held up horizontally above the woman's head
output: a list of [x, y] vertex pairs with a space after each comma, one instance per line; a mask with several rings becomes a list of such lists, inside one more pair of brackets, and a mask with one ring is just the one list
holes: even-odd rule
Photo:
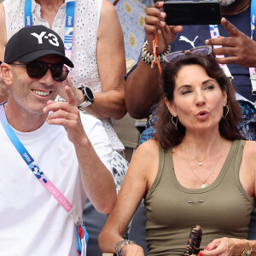
[[220, 24], [218, 0], [179, 0], [164, 3], [167, 25]]

